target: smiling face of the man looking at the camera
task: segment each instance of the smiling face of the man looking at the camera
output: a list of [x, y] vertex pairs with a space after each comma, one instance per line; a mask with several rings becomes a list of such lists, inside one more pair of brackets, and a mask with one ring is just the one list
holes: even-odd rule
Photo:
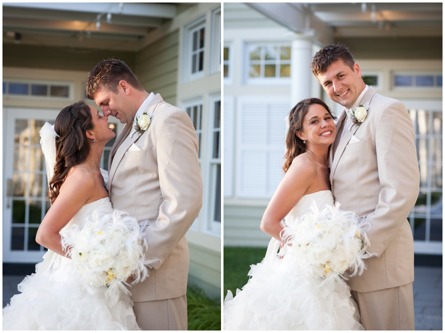
[[348, 109], [354, 105], [365, 87], [358, 64], [355, 63], [351, 68], [342, 60], [332, 63], [326, 72], [318, 74], [316, 78], [330, 99]]

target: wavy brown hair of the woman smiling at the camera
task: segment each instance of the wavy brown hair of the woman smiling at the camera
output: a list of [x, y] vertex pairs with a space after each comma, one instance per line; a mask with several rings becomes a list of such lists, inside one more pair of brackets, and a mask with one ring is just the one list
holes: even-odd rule
[[297, 105], [289, 113], [289, 131], [286, 135], [286, 154], [284, 155], [283, 170], [286, 173], [289, 167], [292, 165], [292, 161], [300, 154], [306, 151], [306, 145], [303, 140], [300, 139], [296, 132], [303, 130], [303, 119], [308, 113], [309, 107], [313, 104], [319, 104], [329, 112], [332, 119], [337, 120], [331, 113], [329, 107], [321, 99], [307, 98], [298, 102]]

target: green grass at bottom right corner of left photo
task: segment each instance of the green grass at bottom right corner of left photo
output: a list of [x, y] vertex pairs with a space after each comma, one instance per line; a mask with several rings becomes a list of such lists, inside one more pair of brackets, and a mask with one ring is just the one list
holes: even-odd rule
[[187, 287], [188, 331], [221, 331], [221, 299], [198, 287]]

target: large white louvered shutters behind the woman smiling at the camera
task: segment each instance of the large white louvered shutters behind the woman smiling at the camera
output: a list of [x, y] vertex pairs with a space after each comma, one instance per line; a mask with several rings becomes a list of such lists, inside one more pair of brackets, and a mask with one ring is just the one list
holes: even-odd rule
[[[270, 199], [283, 170], [289, 97], [243, 97], [237, 105], [236, 197]], [[224, 130], [225, 136], [225, 130]]]

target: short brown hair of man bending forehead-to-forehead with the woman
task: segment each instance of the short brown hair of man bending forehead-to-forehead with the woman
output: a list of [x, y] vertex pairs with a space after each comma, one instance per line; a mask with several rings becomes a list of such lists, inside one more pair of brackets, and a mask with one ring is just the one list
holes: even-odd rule
[[121, 60], [102, 60], [87, 76], [85, 91], [89, 99], [94, 99], [94, 94], [102, 86], [104, 89], [117, 93], [119, 81], [124, 80], [136, 90], [144, 91], [137, 81], [130, 67]]

